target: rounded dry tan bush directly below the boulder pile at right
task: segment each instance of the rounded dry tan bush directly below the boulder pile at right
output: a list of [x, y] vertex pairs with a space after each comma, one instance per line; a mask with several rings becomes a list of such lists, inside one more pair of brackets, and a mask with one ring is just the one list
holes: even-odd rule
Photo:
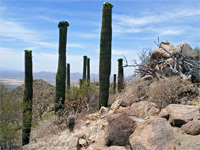
[[150, 101], [155, 102], [160, 108], [168, 104], [179, 104], [182, 98], [190, 100], [198, 94], [198, 88], [194, 84], [178, 76], [154, 81], [148, 92]]

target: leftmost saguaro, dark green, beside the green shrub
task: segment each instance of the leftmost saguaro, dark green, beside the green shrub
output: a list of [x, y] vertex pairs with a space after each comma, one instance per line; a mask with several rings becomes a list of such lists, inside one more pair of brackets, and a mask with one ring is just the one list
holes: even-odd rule
[[32, 122], [33, 72], [32, 51], [25, 50], [25, 89], [23, 98], [22, 145], [29, 143]]

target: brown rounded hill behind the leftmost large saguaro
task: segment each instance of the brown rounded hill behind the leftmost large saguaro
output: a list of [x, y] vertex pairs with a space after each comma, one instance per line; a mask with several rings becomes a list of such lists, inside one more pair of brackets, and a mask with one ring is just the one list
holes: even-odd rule
[[[13, 101], [22, 102], [24, 84], [10, 92]], [[33, 80], [33, 114], [37, 120], [45, 111], [53, 108], [55, 87], [43, 80]]]

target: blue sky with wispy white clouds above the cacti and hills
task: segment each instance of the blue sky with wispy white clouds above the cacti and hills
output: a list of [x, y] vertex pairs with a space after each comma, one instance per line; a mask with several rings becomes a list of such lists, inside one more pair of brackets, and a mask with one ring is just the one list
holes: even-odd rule
[[[67, 62], [82, 72], [82, 57], [98, 73], [102, 0], [0, 0], [0, 67], [24, 70], [24, 50], [33, 50], [33, 70], [57, 71], [58, 22], [69, 22]], [[110, 0], [113, 7], [112, 74], [117, 59], [132, 63], [154, 41], [200, 47], [200, 0]], [[133, 68], [125, 68], [131, 75]]]

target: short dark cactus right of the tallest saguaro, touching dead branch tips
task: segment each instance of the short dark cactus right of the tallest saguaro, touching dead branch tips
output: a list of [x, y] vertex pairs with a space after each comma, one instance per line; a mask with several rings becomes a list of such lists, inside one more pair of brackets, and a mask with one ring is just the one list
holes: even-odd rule
[[124, 89], [123, 59], [118, 59], [118, 92]]

